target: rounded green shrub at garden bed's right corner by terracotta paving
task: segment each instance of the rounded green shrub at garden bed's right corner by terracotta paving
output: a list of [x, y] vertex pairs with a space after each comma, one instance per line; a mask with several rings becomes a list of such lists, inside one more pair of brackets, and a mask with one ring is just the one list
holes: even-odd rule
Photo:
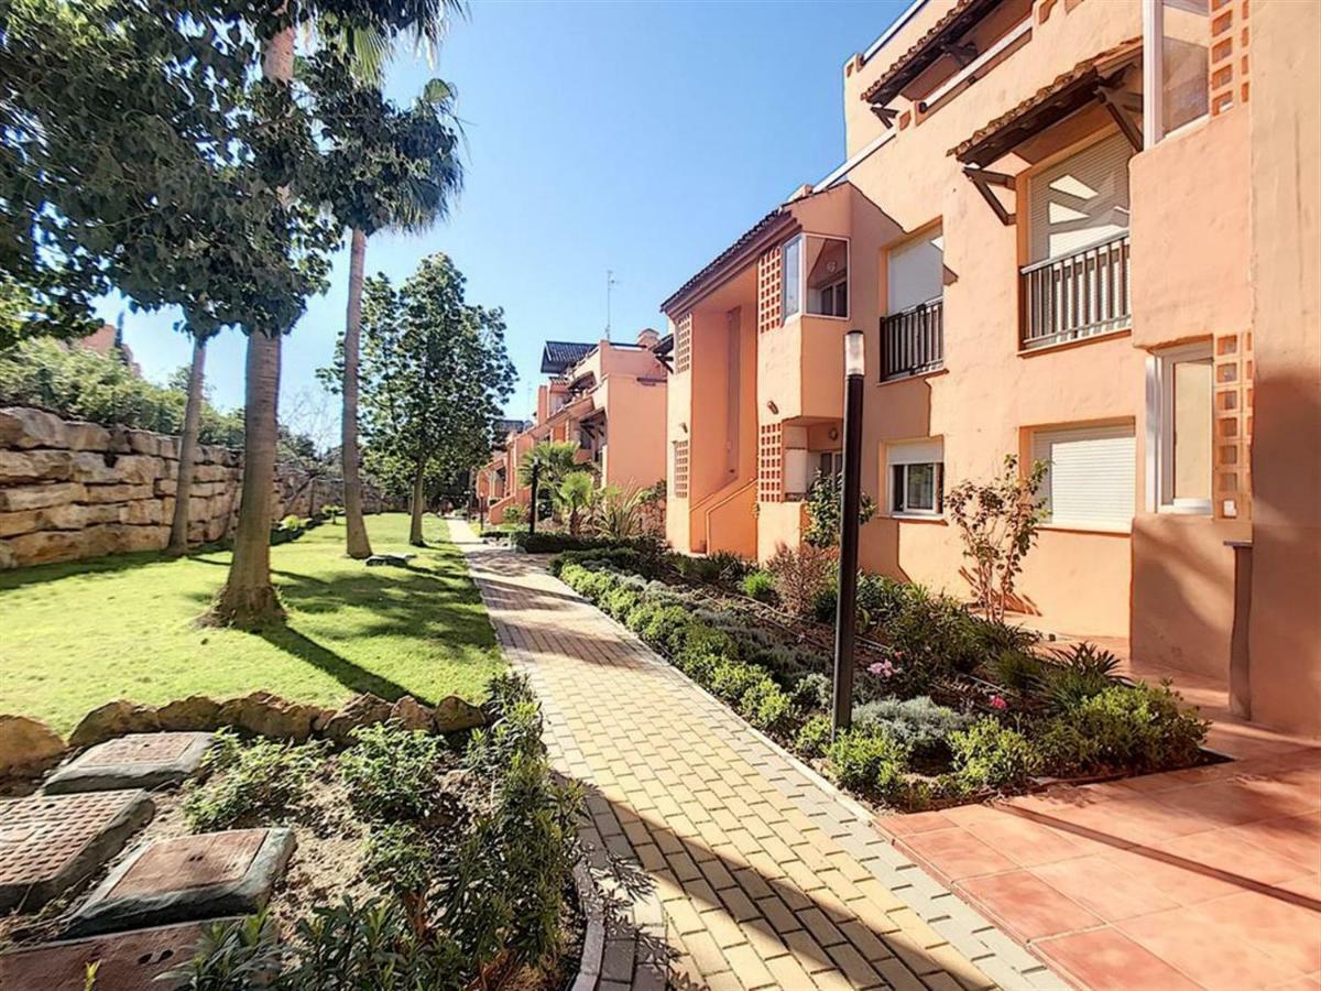
[[1196, 764], [1210, 724], [1166, 686], [1111, 684], [1050, 720], [1041, 739], [1061, 774]]

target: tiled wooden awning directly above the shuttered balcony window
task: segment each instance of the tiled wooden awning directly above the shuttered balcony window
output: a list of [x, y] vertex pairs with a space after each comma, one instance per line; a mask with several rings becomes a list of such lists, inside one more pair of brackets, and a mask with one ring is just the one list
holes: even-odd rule
[[1079, 62], [968, 140], [951, 148], [950, 155], [964, 165], [984, 168], [1033, 135], [1098, 100], [1111, 112], [1133, 148], [1141, 149], [1141, 98], [1119, 89], [1124, 73], [1140, 63], [1141, 58], [1143, 40], [1131, 38]]

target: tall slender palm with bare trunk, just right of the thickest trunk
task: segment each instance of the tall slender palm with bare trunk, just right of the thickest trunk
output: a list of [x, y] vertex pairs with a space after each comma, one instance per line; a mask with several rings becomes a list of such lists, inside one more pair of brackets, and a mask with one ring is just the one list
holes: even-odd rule
[[339, 391], [341, 462], [346, 550], [371, 555], [362, 511], [358, 448], [358, 366], [362, 285], [367, 239], [394, 227], [423, 230], [443, 219], [462, 184], [458, 129], [448, 85], [432, 79], [412, 108], [402, 111], [380, 94], [379, 81], [362, 79], [334, 50], [312, 59], [308, 79], [317, 102], [324, 196], [349, 229], [349, 303], [342, 337]]

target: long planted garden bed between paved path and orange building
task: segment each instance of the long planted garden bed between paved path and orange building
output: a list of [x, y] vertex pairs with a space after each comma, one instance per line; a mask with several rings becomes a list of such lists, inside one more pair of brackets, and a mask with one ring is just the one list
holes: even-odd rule
[[878, 807], [941, 807], [1211, 758], [1196, 710], [1166, 686], [1119, 678], [1112, 654], [1091, 643], [1049, 649], [1037, 633], [876, 576], [860, 579], [853, 728], [832, 739], [831, 628], [816, 618], [834, 612], [823, 577], [831, 562], [782, 562], [771, 577], [728, 555], [627, 546], [568, 551], [552, 571]]

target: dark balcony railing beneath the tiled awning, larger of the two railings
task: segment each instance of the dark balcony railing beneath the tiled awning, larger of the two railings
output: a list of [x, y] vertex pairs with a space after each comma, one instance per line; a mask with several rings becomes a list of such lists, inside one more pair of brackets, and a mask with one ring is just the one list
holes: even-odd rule
[[1045, 348], [1128, 326], [1128, 231], [1022, 270], [1022, 346]]

